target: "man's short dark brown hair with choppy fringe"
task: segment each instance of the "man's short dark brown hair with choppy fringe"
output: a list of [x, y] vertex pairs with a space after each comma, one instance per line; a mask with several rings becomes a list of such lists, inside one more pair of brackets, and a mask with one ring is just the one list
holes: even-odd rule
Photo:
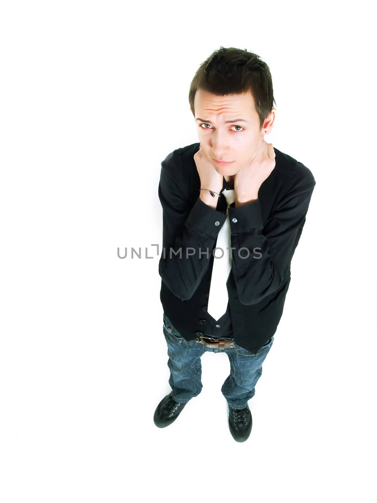
[[269, 116], [273, 104], [272, 77], [268, 65], [246, 49], [220, 47], [198, 68], [190, 85], [189, 103], [194, 117], [194, 100], [198, 89], [217, 96], [251, 92], [259, 115], [259, 130]]

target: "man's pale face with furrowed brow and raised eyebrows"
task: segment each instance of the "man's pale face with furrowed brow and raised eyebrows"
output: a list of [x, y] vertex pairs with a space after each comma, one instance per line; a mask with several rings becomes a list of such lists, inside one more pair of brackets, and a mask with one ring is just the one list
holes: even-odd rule
[[[211, 159], [215, 170], [225, 177], [235, 175], [243, 166], [249, 164], [264, 135], [272, 129], [274, 109], [260, 131], [259, 115], [251, 93], [215, 96], [198, 89], [194, 107], [202, 148]], [[236, 122], [226, 123], [234, 119], [237, 119]], [[221, 166], [214, 159], [234, 162]]]

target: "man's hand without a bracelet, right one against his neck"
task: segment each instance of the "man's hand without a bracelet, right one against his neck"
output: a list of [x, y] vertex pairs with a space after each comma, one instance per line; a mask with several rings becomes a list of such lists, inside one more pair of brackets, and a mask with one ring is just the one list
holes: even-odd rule
[[264, 138], [247, 166], [242, 167], [234, 176], [234, 190], [237, 201], [246, 203], [258, 199], [260, 186], [275, 167], [275, 152], [272, 143]]

